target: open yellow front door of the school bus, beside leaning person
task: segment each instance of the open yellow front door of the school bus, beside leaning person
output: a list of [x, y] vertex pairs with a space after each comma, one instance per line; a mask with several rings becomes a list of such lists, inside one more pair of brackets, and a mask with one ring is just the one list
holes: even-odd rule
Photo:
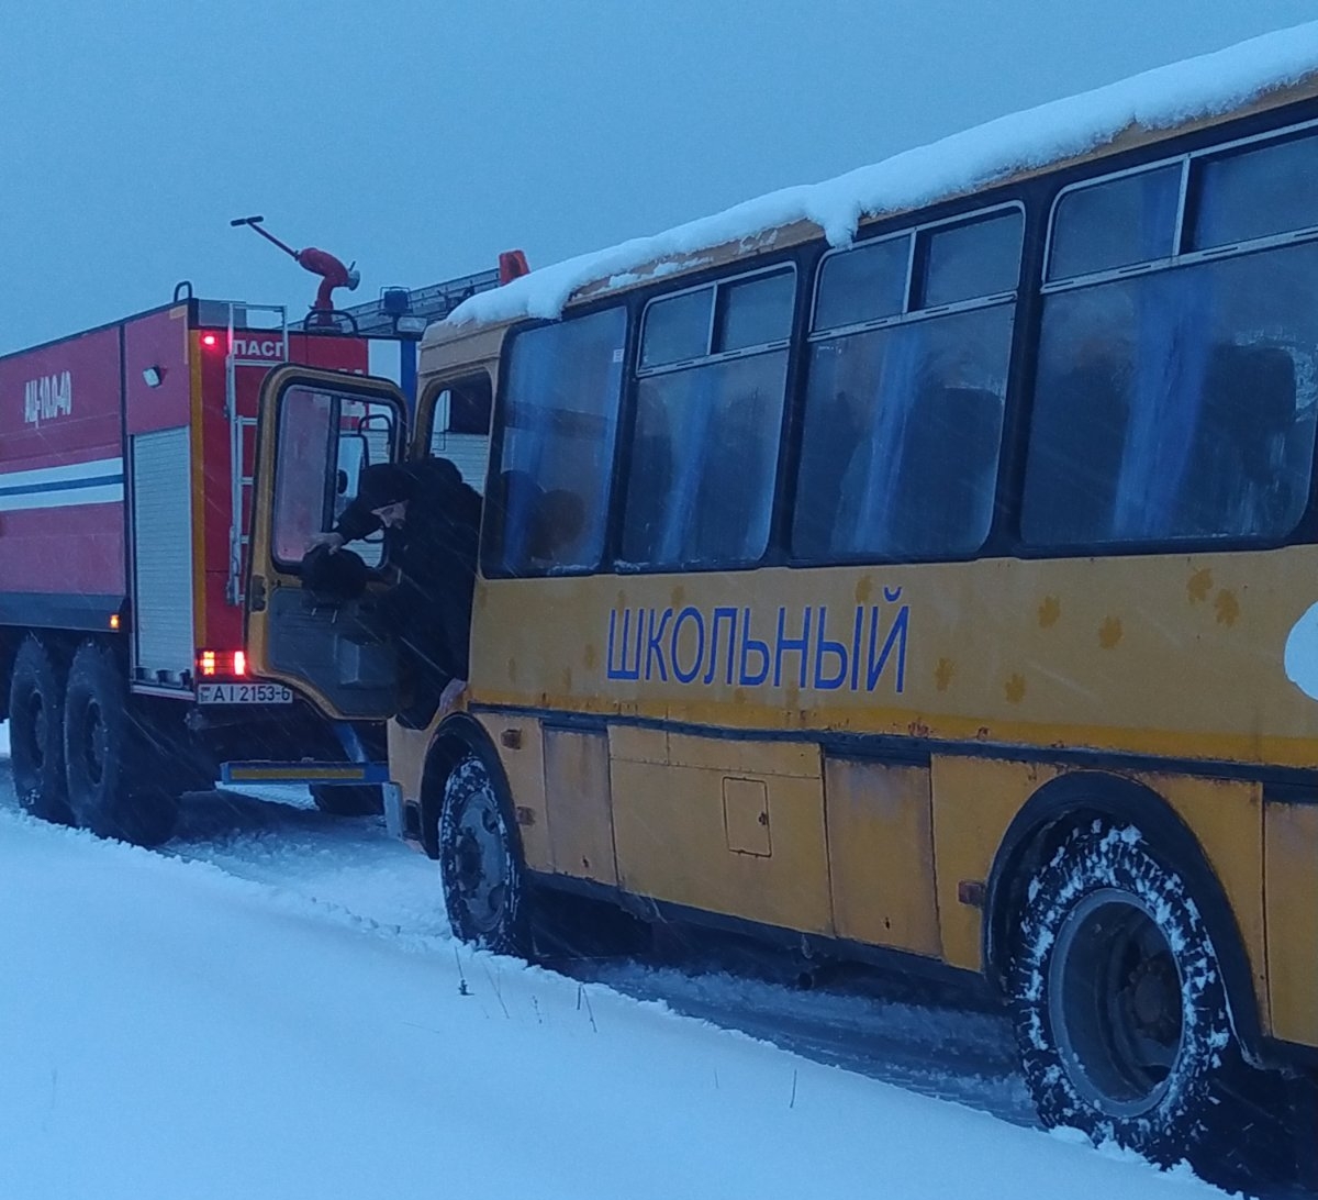
[[282, 367], [261, 389], [248, 657], [254, 675], [287, 683], [332, 717], [374, 720], [398, 708], [397, 653], [372, 605], [389, 564], [378, 535], [337, 551], [369, 568], [365, 595], [353, 596], [351, 587], [312, 592], [302, 559], [356, 495], [362, 468], [401, 458], [405, 422], [403, 394], [386, 380]]

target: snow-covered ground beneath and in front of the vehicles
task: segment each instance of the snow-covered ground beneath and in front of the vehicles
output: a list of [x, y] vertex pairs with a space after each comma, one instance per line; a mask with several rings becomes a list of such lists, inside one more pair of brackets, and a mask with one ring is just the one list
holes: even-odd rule
[[[0, 781], [0, 1196], [1219, 1195], [474, 955], [434, 865], [373, 820], [215, 794], [148, 853], [32, 822], [5, 765]], [[618, 982], [662, 994], [662, 976]], [[710, 1014], [779, 1006], [766, 1026], [863, 1009], [718, 978], [673, 990]], [[988, 1018], [927, 1019], [978, 1047], [1015, 1120]]]

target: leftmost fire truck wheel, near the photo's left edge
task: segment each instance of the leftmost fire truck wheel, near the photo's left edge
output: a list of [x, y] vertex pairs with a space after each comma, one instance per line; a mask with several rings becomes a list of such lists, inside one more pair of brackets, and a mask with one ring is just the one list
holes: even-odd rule
[[72, 823], [65, 787], [65, 680], [45, 646], [26, 637], [9, 686], [9, 761], [18, 803], [42, 820]]

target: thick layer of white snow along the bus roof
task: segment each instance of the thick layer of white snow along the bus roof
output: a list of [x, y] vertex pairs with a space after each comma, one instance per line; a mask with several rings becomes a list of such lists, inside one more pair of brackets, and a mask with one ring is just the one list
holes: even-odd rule
[[687, 270], [700, 252], [753, 240], [800, 220], [846, 245], [863, 216], [879, 216], [985, 187], [1101, 149], [1136, 128], [1173, 129], [1232, 112], [1318, 71], [1318, 21], [1157, 67], [1118, 83], [998, 117], [822, 183], [774, 191], [713, 216], [532, 270], [460, 305], [449, 324], [554, 319], [572, 294]]

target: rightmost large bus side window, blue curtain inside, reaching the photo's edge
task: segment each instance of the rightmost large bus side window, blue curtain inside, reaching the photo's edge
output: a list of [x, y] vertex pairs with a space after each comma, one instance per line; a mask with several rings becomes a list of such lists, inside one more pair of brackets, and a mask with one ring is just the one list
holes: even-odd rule
[[[1318, 243], [1276, 235], [1318, 219], [1277, 191], [1310, 194], [1301, 160], [1314, 145], [1307, 136], [1186, 160], [1058, 200], [1025, 462], [1028, 542], [1273, 539], [1296, 527], [1318, 411]], [[1211, 258], [1177, 261], [1172, 183], [1182, 169], [1195, 200], [1185, 249], [1217, 248]], [[1140, 244], [1120, 255], [1079, 252], [1126, 244], [1135, 228]], [[1111, 269], [1132, 256], [1148, 266]]]

